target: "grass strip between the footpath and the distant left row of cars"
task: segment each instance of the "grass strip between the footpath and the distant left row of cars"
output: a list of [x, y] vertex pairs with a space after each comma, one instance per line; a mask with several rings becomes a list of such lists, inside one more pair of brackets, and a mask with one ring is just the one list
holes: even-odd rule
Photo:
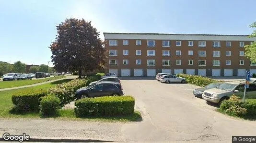
[[[65, 77], [66, 76], [51, 77], [51, 81], [65, 78]], [[38, 79], [38, 80], [4, 81], [4, 82], [0, 82], [0, 89], [18, 87], [18, 86], [24, 86], [24, 85], [31, 85], [31, 84], [40, 83], [40, 82], [47, 82], [49, 80], [50, 80], [50, 78], [44, 78], [44, 79]]]

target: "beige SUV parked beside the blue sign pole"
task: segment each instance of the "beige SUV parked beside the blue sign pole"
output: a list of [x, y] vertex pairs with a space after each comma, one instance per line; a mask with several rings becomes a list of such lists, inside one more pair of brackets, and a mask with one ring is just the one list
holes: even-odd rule
[[[224, 82], [216, 88], [204, 91], [202, 98], [208, 102], [218, 103], [220, 105], [223, 100], [228, 100], [233, 94], [243, 98], [244, 82]], [[256, 98], [256, 83], [250, 82], [245, 96], [246, 98]]]

